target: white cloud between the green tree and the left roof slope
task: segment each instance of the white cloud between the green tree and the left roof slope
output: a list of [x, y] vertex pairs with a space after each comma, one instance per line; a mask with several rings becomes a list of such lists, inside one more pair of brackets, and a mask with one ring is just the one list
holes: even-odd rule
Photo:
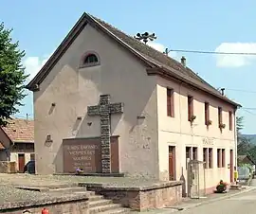
[[26, 74], [29, 75], [28, 80], [32, 80], [40, 69], [45, 65], [50, 55], [47, 55], [43, 58], [39, 57], [27, 57], [23, 62], [26, 67]]

